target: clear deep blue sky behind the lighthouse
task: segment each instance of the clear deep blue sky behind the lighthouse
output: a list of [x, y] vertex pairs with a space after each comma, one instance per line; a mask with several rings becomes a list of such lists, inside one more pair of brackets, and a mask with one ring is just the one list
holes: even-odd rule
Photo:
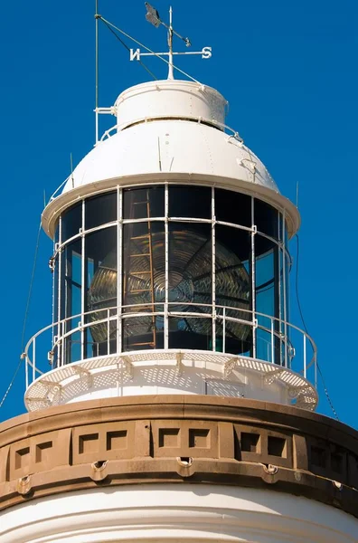
[[[163, 18], [169, 3], [153, 0]], [[358, 4], [354, 0], [250, 3], [173, 0], [174, 26], [212, 59], [178, 65], [230, 101], [228, 124], [263, 160], [281, 192], [299, 183], [299, 291], [325, 383], [340, 419], [358, 427], [357, 203]], [[164, 29], [146, 23], [142, 0], [99, 0], [99, 13], [149, 47]], [[94, 1], [7, 2], [2, 8], [2, 377], [0, 399], [22, 352], [21, 337], [43, 193], [48, 198], [94, 143]], [[101, 106], [147, 81], [100, 27]], [[129, 46], [131, 45], [128, 42]], [[176, 43], [182, 48], [180, 42]], [[165, 64], [148, 66], [158, 78]], [[102, 127], [106, 128], [105, 125]], [[296, 242], [291, 243], [296, 261]], [[52, 318], [52, 243], [42, 233], [25, 337]], [[291, 273], [292, 318], [301, 325]], [[322, 386], [318, 411], [332, 415]], [[0, 421], [24, 412], [24, 369]]]

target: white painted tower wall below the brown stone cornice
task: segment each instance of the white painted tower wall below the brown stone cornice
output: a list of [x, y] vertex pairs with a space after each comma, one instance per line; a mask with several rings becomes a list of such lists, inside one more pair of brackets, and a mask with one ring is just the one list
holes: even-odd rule
[[358, 519], [276, 491], [148, 484], [69, 492], [0, 513], [1, 543], [357, 543]]

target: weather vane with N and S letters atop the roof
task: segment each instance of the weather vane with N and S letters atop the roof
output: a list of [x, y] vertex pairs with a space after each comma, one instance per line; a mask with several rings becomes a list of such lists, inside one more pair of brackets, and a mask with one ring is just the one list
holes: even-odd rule
[[146, 20], [153, 24], [155, 28], [158, 28], [161, 24], [165, 26], [165, 28], [168, 31], [168, 46], [169, 51], [168, 52], [141, 52], [140, 49], [130, 49], [129, 52], [129, 60], [130, 61], [140, 61], [141, 56], [157, 56], [157, 57], [168, 57], [168, 79], [172, 80], [174, 79], [174, 63], [173, 63], [173, 56], [174, 54], [201, 54], [203, 59], [210, 59], [212, 56], [212, 47], [203, 47], [202, 51], [188, 51], [188, 52], [174, 52], [173, 51], [173, 36], [177, 36], [183, 42], [185, 43], [186, 47], [190, 47], [191, 43], [189, 38], [184, 38], [179, 33], [175, 32], [173, 28], [173, 10], [172, 7], [169, 8], [169, 24], [165, 24], [164, 21], [160, 18], [157, 10], [152, 5], [146, 4]]

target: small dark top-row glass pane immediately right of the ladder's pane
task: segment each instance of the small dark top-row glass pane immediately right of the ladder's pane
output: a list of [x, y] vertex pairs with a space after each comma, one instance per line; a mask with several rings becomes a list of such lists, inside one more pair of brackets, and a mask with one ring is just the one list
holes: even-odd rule
[[212, 189], [207, 186], [169, 186], [169, 216], [212, 218]]

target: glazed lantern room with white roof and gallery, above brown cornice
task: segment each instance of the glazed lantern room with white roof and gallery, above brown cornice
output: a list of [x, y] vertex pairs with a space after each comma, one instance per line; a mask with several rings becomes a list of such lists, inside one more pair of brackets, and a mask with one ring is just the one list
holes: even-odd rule
[[192, 81], [126, 90], [111, 109], [114, 128], [52, 196], [42, 224], [54, 240], [53, 322], [36, 335], [52, 338], [51, 367], [43, 370], [32, 339], [30, 409], [105, 389], [225, 387], [316, 405], [307, 376], [315, 378], [316, 347], [289, 322], [297, 208], [225, 124], [226, 105]]

